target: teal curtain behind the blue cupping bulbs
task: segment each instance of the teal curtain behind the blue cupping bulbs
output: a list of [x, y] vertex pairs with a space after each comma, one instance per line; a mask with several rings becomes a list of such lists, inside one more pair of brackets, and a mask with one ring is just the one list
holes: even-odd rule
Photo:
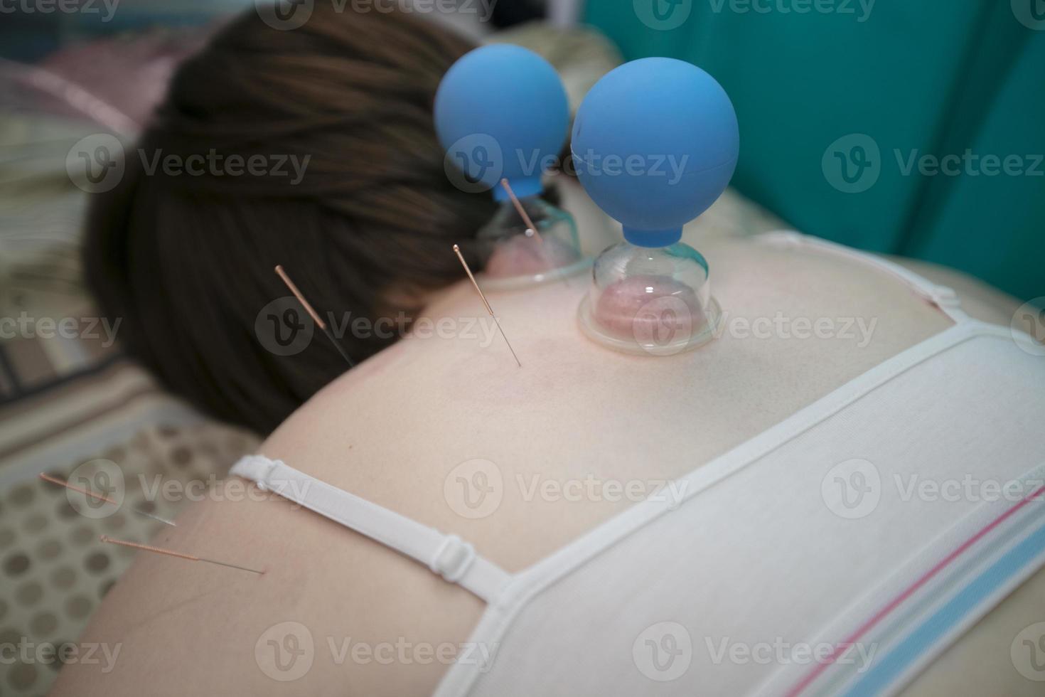
[[734, 185], [797, 229], [1045, 303], [1045, 0], [588, 0], [585, 19], [628, 60], [712, 73], [740, 120]]

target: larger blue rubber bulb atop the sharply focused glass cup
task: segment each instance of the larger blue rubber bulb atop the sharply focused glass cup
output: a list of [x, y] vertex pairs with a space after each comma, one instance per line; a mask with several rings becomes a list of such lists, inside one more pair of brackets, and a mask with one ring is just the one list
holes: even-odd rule
[[725, 190], [740, 133], [725, 90], [674, 59], [626, 63], [588, 92], [572, 150], [588, 195], [638, 247], [668, 247]]

